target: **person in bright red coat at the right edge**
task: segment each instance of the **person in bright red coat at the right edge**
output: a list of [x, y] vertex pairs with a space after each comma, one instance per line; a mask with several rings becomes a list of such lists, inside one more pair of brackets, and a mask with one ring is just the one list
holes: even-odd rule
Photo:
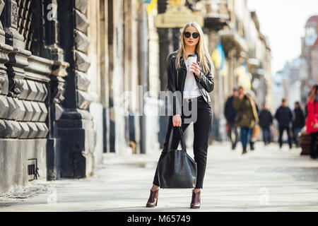
[[318, 158], [318, 84], [314, 85], [310, 90], [310, 95], [307, 99], [307, 119], [306, 128], [307, 133], [310, 133], [310, 157]]

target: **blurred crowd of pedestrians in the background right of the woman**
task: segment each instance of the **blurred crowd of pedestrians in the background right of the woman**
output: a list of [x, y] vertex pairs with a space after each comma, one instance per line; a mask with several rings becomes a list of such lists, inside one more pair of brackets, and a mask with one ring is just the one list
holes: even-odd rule
[[290, 109], [283, 98], [275, 114], [267, 109], [266, 103], [259, 109], [254, 95], [240, 86], [233, 90], [232, 96], [225, 102], [224, 114], [227, 121], [225, 130], [232, 150], [241, 142], [242, 154], [245, 154], [248, 146], [249, 150], [254, 150], [254, 142], [259, 139], [264, 145], [278, 141], [282, 148], [285, 131], [290, 149], [293, 145], [299, 148], [300, 140], [307, 136], [310, 138], [307, 139], [310, 157], [318, 157], [318, 84], [312, 86], [304, 110], [300, 102], [295, 102], [294, 109]]

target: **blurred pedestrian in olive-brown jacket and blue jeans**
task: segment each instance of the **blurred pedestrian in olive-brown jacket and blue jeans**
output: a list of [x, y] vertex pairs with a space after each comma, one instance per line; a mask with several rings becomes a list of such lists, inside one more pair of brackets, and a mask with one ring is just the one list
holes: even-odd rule
[[259, 121], [254, 102], [249, 95], [245, 94], [244, 88], [240, 86], [238, 97], [234, 97], [233, 107], [237, 111], [235, 121], [240, 126], [240, 138], [242, 142], [242, 154], [247, 153], [247, 143], [251, 138], [252, 128]]

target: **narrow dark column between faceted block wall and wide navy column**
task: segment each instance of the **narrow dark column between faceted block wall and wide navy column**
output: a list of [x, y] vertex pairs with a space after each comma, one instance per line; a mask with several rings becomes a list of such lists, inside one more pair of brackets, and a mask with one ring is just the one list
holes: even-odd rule
[[59, 18], [57, 0], [42, 1], [44, 10], [39, 20], [45, 21], [42, 33], [45, 35], [41, 40], [42, 45], [40, 54], [52, 60], [51, 73], [49, 75], [49, 83], [47, 89], [49, 96], [47, 97], [47, 106], [49, 114], [47, 117], [47, 125], [49, 126], [49, 134], [47, 137], [47, 179], [61, 178], [61, 139], [59, 138], [57, 121], [61, 118], [64, 108], [61, 103], [64, 101], [65, 79], [68, 75], [66, 69], [69, 63], [64, 61], [64, 49], [60, 47], [59, 37]]

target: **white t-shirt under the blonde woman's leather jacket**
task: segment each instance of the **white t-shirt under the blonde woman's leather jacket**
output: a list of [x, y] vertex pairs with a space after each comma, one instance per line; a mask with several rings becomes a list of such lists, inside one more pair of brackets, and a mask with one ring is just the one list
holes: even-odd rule
[[184, 90], [183, 90], [183, 97], [184, 98], [194, 98], [201, 96], [201, 92], [196, 85], [196, 79], [194, 78], [194, 73], [190, 71], [188, 66], [188, 60], [185, 60], [185, 64], [187, 66], [187, 76], [186, 81], [184, 82]]

